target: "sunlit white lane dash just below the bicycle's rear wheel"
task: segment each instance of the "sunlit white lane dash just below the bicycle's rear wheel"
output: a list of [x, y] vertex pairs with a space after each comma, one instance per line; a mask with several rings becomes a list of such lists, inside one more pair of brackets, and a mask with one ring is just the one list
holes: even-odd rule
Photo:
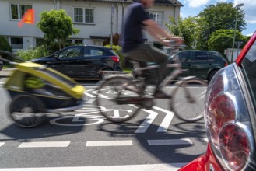
[[132, 140], [124, 141], [87, 141], [87, 147], [99, 147], [99, 146], [130, 146], [132, 145]]

